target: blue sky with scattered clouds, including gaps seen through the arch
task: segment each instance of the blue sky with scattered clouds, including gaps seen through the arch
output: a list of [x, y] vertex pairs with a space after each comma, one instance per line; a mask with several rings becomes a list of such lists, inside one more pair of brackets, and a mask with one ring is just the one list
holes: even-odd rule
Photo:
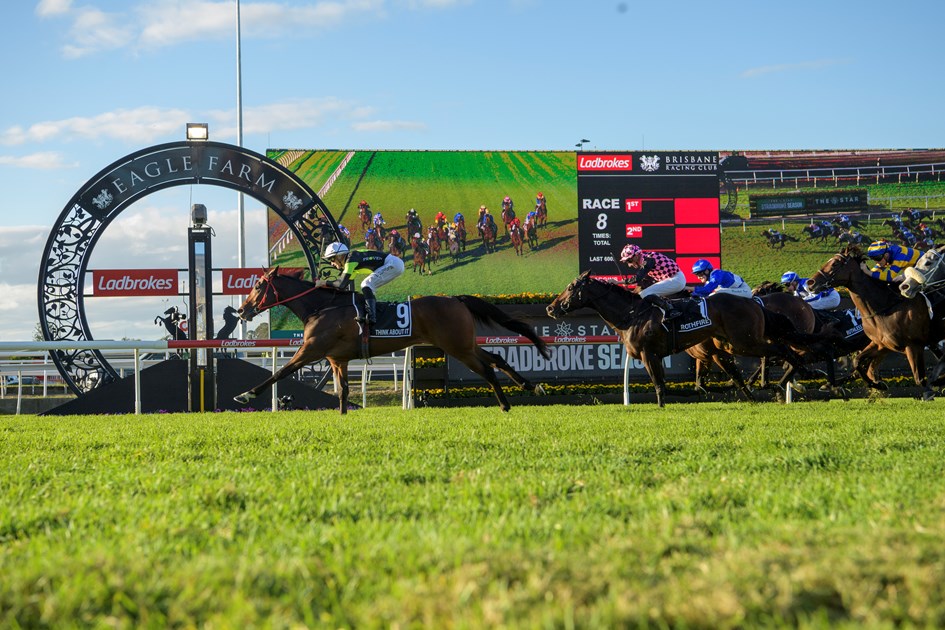
[[[243, 144], [260, 153], [945, 147], [941, 2], [240, 7]], [[43, 245], [82, 184], [187, 122], [236, 141], [236, 2], [15, 0], [0, 15], [0, 339], [15, 340], [32, 336]], [[235, 265], [235, 193], [193, 187], [122, 213], [90, 266], [186, 266], [191, 202], [211, 209], [216, 266]], [[264, 211], [246, 212], [262, 265]], [[153, 304], [121, 301], [90, 305], [96, 338], [160, 336]]]

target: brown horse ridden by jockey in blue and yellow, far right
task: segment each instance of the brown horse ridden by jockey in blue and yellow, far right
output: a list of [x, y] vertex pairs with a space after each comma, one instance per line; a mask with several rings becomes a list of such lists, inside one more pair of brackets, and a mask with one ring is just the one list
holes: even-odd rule
[[863, 317], [863, 332], [870, 343], [857, 355], [854, 370], [872, 389], [886, 389], [879, 380], [879, 365], [890, 352], [906, 355], [912, 378], [923, 389], [922, 398], [931, 400], [935, 392], [925, 374], [925, 347], [945, 338], [945, 325], [933, 320], [922, 296], [904, 298], [897, 285], [863, 273], [863, 252], [846, 247], [833, 256], [810, 278], [811, 291], [846, 287]]

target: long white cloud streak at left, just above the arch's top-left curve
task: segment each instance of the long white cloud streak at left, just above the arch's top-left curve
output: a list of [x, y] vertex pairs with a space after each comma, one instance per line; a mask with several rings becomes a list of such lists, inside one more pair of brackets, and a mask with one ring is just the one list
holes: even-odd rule
[[148, 144], [169, 135], [181, 136], [190, 115], [181, 109], [138, 107], [104, 112], [93, 117], [48, 120], [30, 125], [9, 127], [0, 132], [0, 144], [20, 145], [50, 140], [95, 140], [108, 138], [128, 144]]

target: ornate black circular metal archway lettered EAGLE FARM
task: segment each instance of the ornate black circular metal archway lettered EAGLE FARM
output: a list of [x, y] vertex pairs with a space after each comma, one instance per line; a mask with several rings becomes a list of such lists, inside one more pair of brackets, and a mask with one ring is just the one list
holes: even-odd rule
[[[83, 297], [95, 243], [125, 208], [159, 190], [205, 184], [242, 191], [272, 208], [303, 245], [313, 277], [338, 224], [318, 195], [263, 155], [219, 142], [161, 144], [106, 167], [72, 197], [53, 226], [39, 270], [39, 321], [47, 341], [89, 341]], [[69, 387], [87, 392], [118, 378], [98, 350], [50, 353]]]

